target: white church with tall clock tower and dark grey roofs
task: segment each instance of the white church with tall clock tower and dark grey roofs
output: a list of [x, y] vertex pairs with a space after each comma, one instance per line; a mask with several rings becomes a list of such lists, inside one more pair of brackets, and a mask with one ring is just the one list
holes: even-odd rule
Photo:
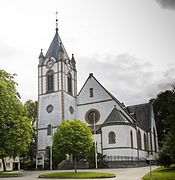
[[53, 40], [46, 54], [41, 50], [39, 55], [38, 155], [44, 157], [46, 147], [52, 145], [49, 127], [54, 132], [61, 121], [78, 118], [88, 123], [97, 152], [106, 155], [110, 167], [116, 167], [116, 162], [145, 162], [150, 156], [155, 160], [158, 137], [151, 101], [127, 107], [93, 73], [77, 92], [77, 72], [75, 57], [68, 56], [56, 19]]

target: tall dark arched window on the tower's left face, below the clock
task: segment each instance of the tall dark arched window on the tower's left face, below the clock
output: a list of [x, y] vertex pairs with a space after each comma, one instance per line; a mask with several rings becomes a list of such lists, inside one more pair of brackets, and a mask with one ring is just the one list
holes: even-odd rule
[[54, 90], [54, 71], [49, 70], [46, 74], [47, 92], [53, 92]]

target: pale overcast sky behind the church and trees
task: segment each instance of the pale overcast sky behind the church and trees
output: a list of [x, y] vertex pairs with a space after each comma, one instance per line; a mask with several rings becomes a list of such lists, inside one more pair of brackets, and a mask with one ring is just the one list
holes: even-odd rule
[[1, 0], [0, 69], [16, 73], [22, 101], [37, 100], [40, 49], [59, 34], [77, 62], [126, 105], [175, 82], [175, 0]]

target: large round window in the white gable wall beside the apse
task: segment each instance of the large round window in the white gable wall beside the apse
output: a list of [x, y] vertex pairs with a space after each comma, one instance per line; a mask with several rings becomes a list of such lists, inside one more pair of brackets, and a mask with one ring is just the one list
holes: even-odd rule
[[96, 109], [90, 109], [86, 113], [85, 119], [89, 124], [96, 124], [100, 119], [100, 112]]

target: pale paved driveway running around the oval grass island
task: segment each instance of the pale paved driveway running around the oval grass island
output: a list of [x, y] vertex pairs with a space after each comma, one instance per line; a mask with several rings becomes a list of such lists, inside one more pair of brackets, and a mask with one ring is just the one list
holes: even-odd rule
[[[152, 169], [155, 169], [155, 168], [156, 166], [152, 166]], [[78, 171], [110, 172], [110, 173], [116, 174], [115, 178], [108, 178], [108, 180], [141, 180], [144, 174], [149, 172], [149, 166], [139, 167], [139, 168], [97, 169], [97, 170], [88, 169], [88, 170], [78, 170]], [[50, 171], [24, 171], [23, 177], [5, 178], [5, 180], [39, 180], [38, 175], [42, 173], [46, 173], [46, 172], [50, 172]], [[107, 179], [103, 179], [103, 180], [107, 180]]]

